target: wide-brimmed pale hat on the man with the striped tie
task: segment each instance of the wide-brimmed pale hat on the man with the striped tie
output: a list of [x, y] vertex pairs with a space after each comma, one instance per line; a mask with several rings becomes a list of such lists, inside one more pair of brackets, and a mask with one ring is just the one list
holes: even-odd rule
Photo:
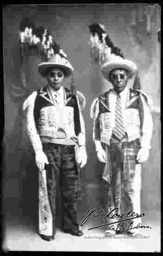
[[108, 61], [101, 66], [101, 73], [105, 79], [109, 80], [110, 71], [115, 70], [116, 68], [122, 68], [129, 71], [130, 77], [136, 74], [138, 69], [134, 62], [129, 61], [128, 59], [123, 59], [115, 54], [110, 54]]

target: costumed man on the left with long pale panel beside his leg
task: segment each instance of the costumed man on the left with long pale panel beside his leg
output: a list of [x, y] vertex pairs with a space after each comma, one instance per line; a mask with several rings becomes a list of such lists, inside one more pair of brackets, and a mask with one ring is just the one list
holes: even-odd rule
[[39, 235], [53, 240], [55, 235], [56, 190], [60, 186], [63, 206], [63, 232], [80, 236], [77, 199], [81, 192], [80, 169], [87, 161], [85, 123], [82, 110], [85, 97], [63, 87], [74, 69], [66, 57], [54, 54], [38, 66], [48, 85], [34, 91], [24, 102], [27, 131], [39, 168]]

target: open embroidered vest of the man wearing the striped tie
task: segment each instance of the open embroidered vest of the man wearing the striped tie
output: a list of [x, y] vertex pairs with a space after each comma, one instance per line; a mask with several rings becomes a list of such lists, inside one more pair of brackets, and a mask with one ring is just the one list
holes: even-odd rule
[[[129, 89], [129, 101], [126, 103], [126, 133], [130, 138], [140, 136], [142, 123], [144, 120], [144, 111], [141, 100], [141, 93], [137, 90]], [[113, 120], [109, 107], [109, 94], [112, 89], [101, 94], [99, 99], [100, 113], [100, 140], [110, 145], [110, 137], [112, 136]], [[142, 94], [144, 96], [144, 94]], [[147, 99], [145, 99], [147, 100]]]

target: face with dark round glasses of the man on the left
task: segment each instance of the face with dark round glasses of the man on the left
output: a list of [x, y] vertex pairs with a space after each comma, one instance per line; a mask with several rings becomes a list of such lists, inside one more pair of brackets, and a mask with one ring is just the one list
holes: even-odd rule
[[51, 68], [47, 74], [48, 83], [55, 91], [59, 90], [65, 79], [65, 74], [60, 68]]

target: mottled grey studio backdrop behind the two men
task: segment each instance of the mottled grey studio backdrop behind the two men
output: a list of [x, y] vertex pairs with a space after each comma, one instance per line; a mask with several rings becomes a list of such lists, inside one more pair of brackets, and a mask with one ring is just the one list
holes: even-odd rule
[[[22, 103], [30, 93], [46, 84], [37, 71], [40, 56], [31, 55], [20, 64], [19, 30], [23, 18], [36, 27], [48, 28], [74, 67], [74, 82], [86, 97], [83, 116], [86, 125], [88, 163], [82, 169], [83, 201], [79, 221], [94, 206], [103, 208], [106, 198], [101, 180], [103, 165], [97, 162], [92, 143], [92, 100], [109, 82], [90, 54], [89, 25], [103, 24], [124, 57], [138, 65], [141, 90], [152, 102], [153, 137], [149, 160], [142, 165], [142, 212], [159, 220], [160, 212], [160, 49], [161, 7], [158, 4], [8, 5], [3, 12], [4, 57], [4, 206], [12, 216], [35, 220], [37, 212], [37, 169], [34, 152], [25, 131]], [[66, 81], [69, 87], [71, 77]], [[21, 88], [21, 89], [20, 89]]]

